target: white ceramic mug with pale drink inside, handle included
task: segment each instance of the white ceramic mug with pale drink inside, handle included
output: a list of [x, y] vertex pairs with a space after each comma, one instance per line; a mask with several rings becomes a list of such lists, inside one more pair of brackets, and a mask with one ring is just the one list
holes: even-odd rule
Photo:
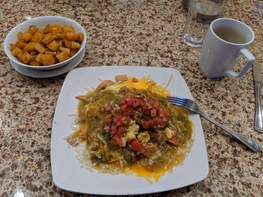
[[[229, 18], [214, 20], [205, 36], [198, 65], [208, 78], [231, 75], [242, 77], [254, 63], [254, 56], [247, 50], [255, 38], [246, 24]], [[239, 73], [233, 67], [244, 56], [245, 66]]]

